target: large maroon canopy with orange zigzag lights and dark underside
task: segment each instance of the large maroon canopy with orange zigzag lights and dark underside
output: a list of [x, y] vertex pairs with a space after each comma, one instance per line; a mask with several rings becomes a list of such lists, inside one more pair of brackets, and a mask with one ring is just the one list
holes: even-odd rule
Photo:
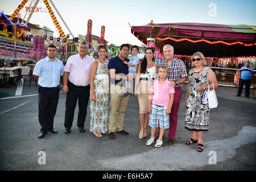
[[161, 52], [171, 44], [178, 55], [200, 51], [209, 57], [253, 56], [256, 50], [256, 28], [245, 24], [150, 23], [132, 26], [131, 33], [144, 44], [147, 38], [155, 38]]

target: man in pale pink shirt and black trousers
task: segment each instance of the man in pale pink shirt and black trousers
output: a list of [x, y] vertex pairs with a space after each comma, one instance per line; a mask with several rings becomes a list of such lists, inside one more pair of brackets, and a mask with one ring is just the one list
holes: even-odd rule
[[85, 132], [84, 123], [90, 96], [90, 67], [95, 61], [87, 55], [89, 47], [83, 41], [79, 44], [79, 54], [69, 57], [63, 75], [63, 92], [67, 94], [65, 110], [65, 134], [71, 132], [77, 98], [79, 99], [79, 115], [77, 126], [81, 133]]

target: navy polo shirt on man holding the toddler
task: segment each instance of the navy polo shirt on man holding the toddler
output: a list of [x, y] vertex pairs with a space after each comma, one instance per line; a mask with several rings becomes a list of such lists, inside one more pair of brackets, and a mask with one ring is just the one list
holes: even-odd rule
[[[129, 61], [129, 59], [125, 60]], [[127, 64], [123, 63], [123, 61], [118, 56], [115, 56], [109, 60], [108, 69], [115, 69], [116, 74], [126, 76], [128, 74], [129, 67]], [[115, 80], [115, 84], [117, 84], [118, 82], [120, 82], [120, 80]]]

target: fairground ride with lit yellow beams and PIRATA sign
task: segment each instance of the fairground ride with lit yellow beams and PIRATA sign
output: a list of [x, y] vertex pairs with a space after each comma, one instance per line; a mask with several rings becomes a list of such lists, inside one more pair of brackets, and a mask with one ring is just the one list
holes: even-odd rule
[[[60, 15], [59, 11], [57, 10], [56, 6], [53, 4], [52, 0], [43, 0], [44, 4], [47, 7], [48, 13], [51, 15], [53, 24], [55, 25], [55, 28], [57, 32], [59, 33], [60, 37], [63, 39], [63, 42], [67, 45], [68, 44], [68, 39], [65, 36], [59, 22], [57, 21], [57, 18], [55, 14], [52, 11], [51, 6], [49, 5], [49, 2], [51, 2], [53, 9], [55, 9], [56, 13], [59, 15], [60, 19], [64, 23], [65, 27], [69, 31], [69, 34], [74, 38], [71, 30], [67, 26], [67, 23], [65, 23], [64, 19]], [[6, 30], [6, 35], [3, 35], [0, 40], [0, 55], [11, 55], [16, 58], [17, 57], [23, 57], [24, 59], [42, 59], [43, 57], [46, 56], [46, 47], [44, 46], [44, 38], [39, 38], [39, 37], [34, 37], [34, 42], [33, 43], [26, 43], [20, 40], [16, 40], [19, 36], [22, 35], [22, 32], [26, 31], [23, 30], [24, 28], [27, 28], [27, 24], [32, 16], [32, 14], [36, 11], [36, 6], [38, 5], [39, 0], [32, 0], [30, 3], [29, 8], [33, 9], [28, 13], [26, 11], [26, 14], [24, 15], [22, 21], [20, 19], [20, 10], [24, 7], [24, 5], [28, 2], [28, 0], [23, 0], [20, 5], [15, 9], [14, 13], [8, 18], [5, 14], [3, 14], [3, 11], [1, 12], [0, 16], [2, 17], [3, 22], [6, 22], [6, 24], [10, 24], [14, 28], [11, 28], [14, 30], [14, 33], [11, 36], [6, 36], [8, 34]], [[34, 3], [34, 5], [32, 5]], [[27, 7], [26, 7], [27, 8]], [[17, 16], [17, 17], [16, 17]], [[17, 20], [18, 19], [18, 20]], [[17, 22], [13, 22], [16, 21]], [[2, 24], [2, 22], [1, 22]], [[7, 29], [7, 27], [3, 26], [3, 29]], [[16, 31], [16, 28], [19, 30], [18, 32]], [[5, 33], [5, 32], [3, 32]], [[10, 33], [10, 32], [9, 32]], [[19, 35], [20, 34], [20, 35]], [[19, 35], [19, 36], [18, 36]], [[65, 46], [63, 46], [65, 47]], [[20, 52], [22, 52], [20, 54]]]

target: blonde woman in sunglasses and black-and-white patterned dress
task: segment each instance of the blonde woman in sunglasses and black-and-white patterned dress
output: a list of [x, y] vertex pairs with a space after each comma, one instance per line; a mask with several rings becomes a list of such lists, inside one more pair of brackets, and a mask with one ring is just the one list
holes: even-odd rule
[[201, 52], [196, 52], [192, 57], [192, 68], [188, 74], [187, 94], [185, 98], [185, 106], [187, 114], [185, 117], [185, 129], [192, 130], [192, 138], [186, 144], [197, 143], [197, 151], [204, 150], [203, 131], [209, 129], [209, 108], [201, 109], [201, 98], [204, 90], [217, 88], [217, 80], [212, 69], [205, 67], [207, 65], [204, 55]]

